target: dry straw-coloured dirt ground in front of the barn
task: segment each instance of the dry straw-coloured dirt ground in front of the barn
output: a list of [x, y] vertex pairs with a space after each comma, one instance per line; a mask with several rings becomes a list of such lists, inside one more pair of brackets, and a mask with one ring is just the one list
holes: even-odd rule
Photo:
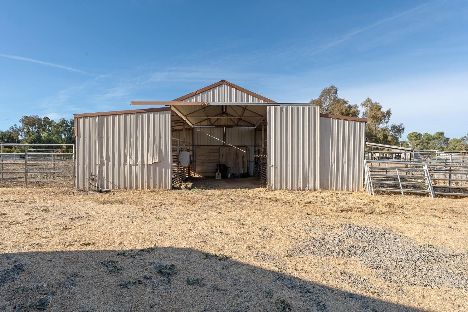
[[0, 188], [0, 311], [467, 311], [467, 198], [256, 186]]

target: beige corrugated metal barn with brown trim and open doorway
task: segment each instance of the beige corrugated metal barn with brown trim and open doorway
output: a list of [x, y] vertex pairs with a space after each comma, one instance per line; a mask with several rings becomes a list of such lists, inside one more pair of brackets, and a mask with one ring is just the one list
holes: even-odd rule
[[257, 177], [270, 189], [359, 191], [366, 119], [276, 103], [221, 80], [162, 108], [75, 114], [76, 186], [170, 189], [189, 177]]

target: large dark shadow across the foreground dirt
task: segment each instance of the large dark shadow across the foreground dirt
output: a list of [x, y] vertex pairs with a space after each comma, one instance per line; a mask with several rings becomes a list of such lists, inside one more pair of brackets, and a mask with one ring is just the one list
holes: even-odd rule
[[422, 311], [190, 248], [0, 255], [0, 310], [36, 311], [51, 292], [52, 311]]

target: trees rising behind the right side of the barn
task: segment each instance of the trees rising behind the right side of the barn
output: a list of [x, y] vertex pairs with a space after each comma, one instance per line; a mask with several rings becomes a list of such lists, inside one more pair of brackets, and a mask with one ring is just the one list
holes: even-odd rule
[[407, 140], [401, 140], [405, 127], [402, 123], [390, 124], [391, 109], [384, 110], [370, 97], [360, 105], [350, 104], [348, 100], [338, 97], [338, 88], [334, 85], [323, 89], [319, 97], [310, 103], [319, 106], [320, 112], [325, 114], [367, 118], [366, 138], [369, 142], [418, 150], [468, 151], [468, 134], [460, 139], [450, 139], [443, 131], [435, 134], [411, 132]]

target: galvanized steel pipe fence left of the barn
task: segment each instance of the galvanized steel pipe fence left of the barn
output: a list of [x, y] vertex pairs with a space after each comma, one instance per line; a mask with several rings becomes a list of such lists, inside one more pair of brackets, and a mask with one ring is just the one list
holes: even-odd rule
[[74, 144], [0, 144], [0, 185], [75, 183]]

